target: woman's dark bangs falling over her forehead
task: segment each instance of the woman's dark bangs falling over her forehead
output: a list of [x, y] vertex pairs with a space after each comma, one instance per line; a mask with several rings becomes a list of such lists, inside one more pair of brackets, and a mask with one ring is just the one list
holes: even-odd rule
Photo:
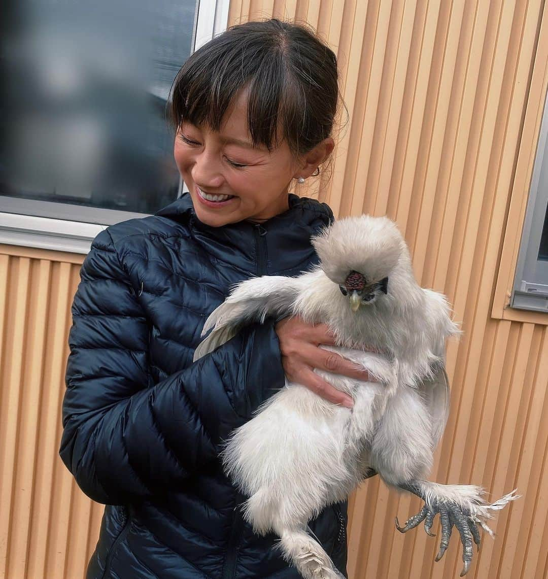
[[[241, 43], [204, 45], [183, 65], [172, 85], [171, 120], [219, 131], [231, 104], [248, 90], [247, 119], [253, 146], [272, 151], [288, 142], [293, 155], [302, 153], [306, 98], [292, 78], [282, 46], [242, 38]], [[299, 113], [299, 111], [301, 111]]]

